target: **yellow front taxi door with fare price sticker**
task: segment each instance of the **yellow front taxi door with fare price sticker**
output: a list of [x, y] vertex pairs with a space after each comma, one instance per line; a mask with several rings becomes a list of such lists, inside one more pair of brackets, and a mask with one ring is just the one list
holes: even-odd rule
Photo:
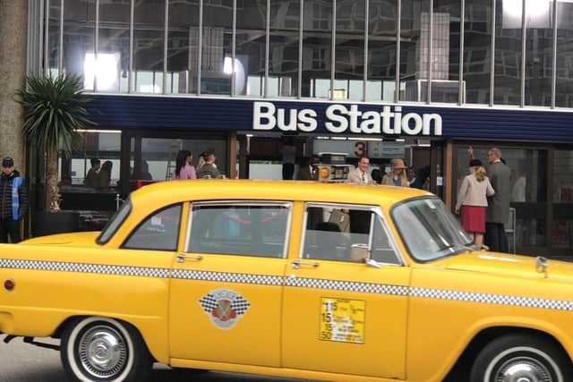
[[[405, 378], [410, 271], [381, 211], [311, 203], [306, 210], [299, 258], [286, 266], [283, 366]], [[366, 250], [367, 259], [356, 257]]]

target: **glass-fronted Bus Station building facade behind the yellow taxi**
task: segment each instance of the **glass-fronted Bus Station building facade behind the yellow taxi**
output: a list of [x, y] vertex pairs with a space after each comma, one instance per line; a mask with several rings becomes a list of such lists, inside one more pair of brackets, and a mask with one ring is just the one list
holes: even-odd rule
[[215, 149], [231, 178], [279, 178], [291, 136], [301, 157], [427, 166], [453, 206], [467, 148], [485, 161], [498, 147], [514, 249], [571, 255], [570, 1], [44, 0], [28, 13], [28, 72], [79, 73], [94, 96], [96, 124], [60, 165], [80, 194], [90, 157], [114, 163], [109, 193], [124, 198], [143, 166], [165, 180], [179, 149], [195, 163]]

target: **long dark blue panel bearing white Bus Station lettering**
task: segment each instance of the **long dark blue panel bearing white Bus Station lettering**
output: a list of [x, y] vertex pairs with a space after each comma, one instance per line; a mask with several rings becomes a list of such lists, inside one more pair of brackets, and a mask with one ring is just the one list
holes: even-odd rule
[[573, 111], [560, 110], [131, 95], [97, 96], [90, 106], [91, 119], [113, 129], [573, 141]]

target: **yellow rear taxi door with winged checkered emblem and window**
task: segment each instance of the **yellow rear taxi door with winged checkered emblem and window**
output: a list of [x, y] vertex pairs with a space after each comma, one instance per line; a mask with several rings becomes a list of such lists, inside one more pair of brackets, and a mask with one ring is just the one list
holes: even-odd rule
[[172, 365], [278, 367], [291, 210], [289, 202], [192, 203], [171, 279]]

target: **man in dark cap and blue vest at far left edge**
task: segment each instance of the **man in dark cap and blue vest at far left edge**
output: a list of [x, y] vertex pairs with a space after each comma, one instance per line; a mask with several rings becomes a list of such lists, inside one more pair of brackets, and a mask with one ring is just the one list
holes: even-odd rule
[[8, 235], [11, 242], [21, 242], [20, 222], [28, 213], [28, 191], [11, 157], [2, 159], [0, 203], [0, 242], [8, 242]]

